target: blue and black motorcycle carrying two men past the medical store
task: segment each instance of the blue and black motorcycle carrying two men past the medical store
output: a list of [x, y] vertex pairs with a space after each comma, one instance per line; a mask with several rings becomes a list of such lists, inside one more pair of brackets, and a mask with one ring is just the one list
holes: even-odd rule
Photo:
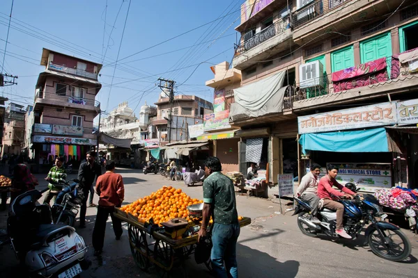
[[[378, 200], [373, 195], [356, 195], [353, 200], [339, 199], [344, 206], [344, 229], [353, 240], [359, 236], [362, 228], [370, 224], [365, 231], [366, 242], [371, 251], [383, 259], [389, 261], [403, 261], [411, 253], [411, 243], [398, 226], [385, 222], [387, 215], [383, 213]], [[302, 199], [294, 197], [297, 202], [295, 212], [297, 214], [297, 226], [306, 236], [326, 235], [337, 237], [336, 212], [323, 208], [318, 212], [319, 224], [311, 222], [311, 206]], [[376, 220], [376, 217], [382, 221]]]

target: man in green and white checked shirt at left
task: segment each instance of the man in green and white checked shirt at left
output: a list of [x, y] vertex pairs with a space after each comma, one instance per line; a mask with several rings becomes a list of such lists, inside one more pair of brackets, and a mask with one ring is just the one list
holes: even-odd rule
[[65, 172], [63, 163], [64, 158], [62, 156], [57, 157], [55, 159], [55, 166], [49, 170], [49, 173], [45, 178], [45, 181], [49, 181], [49, 190], [47, 191], [47, 195], [45, 195], [44, 204], [49, 204], [51, 199], [53, 197], [56, 198], [56, 195], [63, 189], [63, 183], [65, 183], [65, 180], [67, 179], [67, 173]]

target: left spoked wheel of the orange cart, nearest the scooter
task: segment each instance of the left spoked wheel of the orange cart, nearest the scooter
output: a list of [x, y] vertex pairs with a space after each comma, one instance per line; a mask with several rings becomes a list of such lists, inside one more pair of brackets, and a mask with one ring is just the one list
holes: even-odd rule
[[144, 231], [139, 230], [131, 224], [129, 224], [128, 227], [128, 234], [131, 252], [135, 263], [137, 263], [141, 270], [148, 270], [148, 267], [150, 266], [150, 259], [148, 254], [148, 244], [146, 242], [146, 234]]

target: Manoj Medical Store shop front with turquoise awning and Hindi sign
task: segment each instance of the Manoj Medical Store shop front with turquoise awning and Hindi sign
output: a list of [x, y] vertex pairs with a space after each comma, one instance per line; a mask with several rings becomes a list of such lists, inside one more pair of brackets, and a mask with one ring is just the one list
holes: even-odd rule
[[339, 183], [355, 183], [364, 192], [406, 186], [401, 142], [385, 129], [398, 124], [396, 111], [392, 101], [298, 117], [299, 174], [306, 174], [311, 163], [325, 174], [332, 164], [339, 167]]

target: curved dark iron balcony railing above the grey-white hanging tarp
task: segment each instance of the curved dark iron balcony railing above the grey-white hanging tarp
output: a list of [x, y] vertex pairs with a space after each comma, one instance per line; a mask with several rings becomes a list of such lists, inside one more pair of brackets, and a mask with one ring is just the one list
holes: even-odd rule
[[249, 40], [246, 40], [239, 45], [235, 44], [235, 57], [240, 56], [245, 53], [245, 51], [249, 51], [249, 49], [256, 47], [258, 44], [273, 38], [275, 35], [284, 33], [284, 31], [288, 28], [291, 28], [291, 24], [284, 20], [279, 20], [279, 22], [264, 28], [261, 32], [256, 33]]

